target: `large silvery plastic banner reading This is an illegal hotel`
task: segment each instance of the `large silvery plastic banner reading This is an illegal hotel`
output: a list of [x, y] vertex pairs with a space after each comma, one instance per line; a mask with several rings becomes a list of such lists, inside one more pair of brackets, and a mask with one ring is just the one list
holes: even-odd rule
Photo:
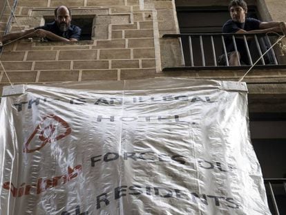
[[4, 95], [1, 215], [270, 214], [245, 83], [158, 78]]

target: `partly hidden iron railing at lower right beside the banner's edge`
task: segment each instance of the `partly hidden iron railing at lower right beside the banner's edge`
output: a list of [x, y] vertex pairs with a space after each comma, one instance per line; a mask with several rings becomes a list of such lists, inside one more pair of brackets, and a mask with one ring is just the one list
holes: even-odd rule
[[265, 178], [264, 183], [272, 214], [286, 214], [286, 178]]

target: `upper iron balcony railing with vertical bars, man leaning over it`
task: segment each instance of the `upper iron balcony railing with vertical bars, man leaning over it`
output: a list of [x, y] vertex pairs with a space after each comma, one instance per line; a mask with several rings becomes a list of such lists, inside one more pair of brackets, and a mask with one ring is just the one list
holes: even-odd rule
[[[245, 34], [222, 34], [222, 33], [196, 33], [163, 35], [164, 38], [178, 38], [182, 48], [184, 66], [168, 66], [163, 71], [173, 70], [203, 70], [203, 69], [233, 69], [249, 68], [261, 57], [256, 67], [263, 68], [286, 68], [286, 48], [280, 41], [271, 48], [281, 37], [276, 33], [245, 33]], [[218, 57], [227, 56], [226, 39], [231, 39], [234, 49], [238, 50], [238, 40], [245, 46], [248, 63], [241, 62], [239, 66], [229, 66], [229, 60], [225, 57], [226, 66], [218, 65]], [[269, 50], [268, 50], [269, 49]], [[268, 50], [268, 52], [267, 52]], [[264, 56], [263, 54], [267, 52]], [[262, 57], [263, 56], [263, 57]]]

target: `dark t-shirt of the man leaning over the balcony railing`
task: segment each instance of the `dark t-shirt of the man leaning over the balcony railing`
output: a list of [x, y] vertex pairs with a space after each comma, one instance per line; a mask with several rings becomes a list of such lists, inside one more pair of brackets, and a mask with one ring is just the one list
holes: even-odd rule
[[[235, 33], [238, 30], [258, 30], [260, 25], [260, 21], [254, 18], [246, 18], [244, 23], [239, 23], [229, 19], [223, 26], [223, 33]], [[251, 40], [247, 41], [247, 44], [250, 45]], [[225, 37], [225, 46], [227, 46], [227, 52], [234, 51], [233, 41], [231, 37]], [[242, 62], [245, 64], [249, 64], [249, 59], [247, 57], [247, 50], [245, 48], [245, 42], [243, 39], [236, 39], [236, 47], [238, 48], [238, 52], [240, 53], [240, 58]]]

